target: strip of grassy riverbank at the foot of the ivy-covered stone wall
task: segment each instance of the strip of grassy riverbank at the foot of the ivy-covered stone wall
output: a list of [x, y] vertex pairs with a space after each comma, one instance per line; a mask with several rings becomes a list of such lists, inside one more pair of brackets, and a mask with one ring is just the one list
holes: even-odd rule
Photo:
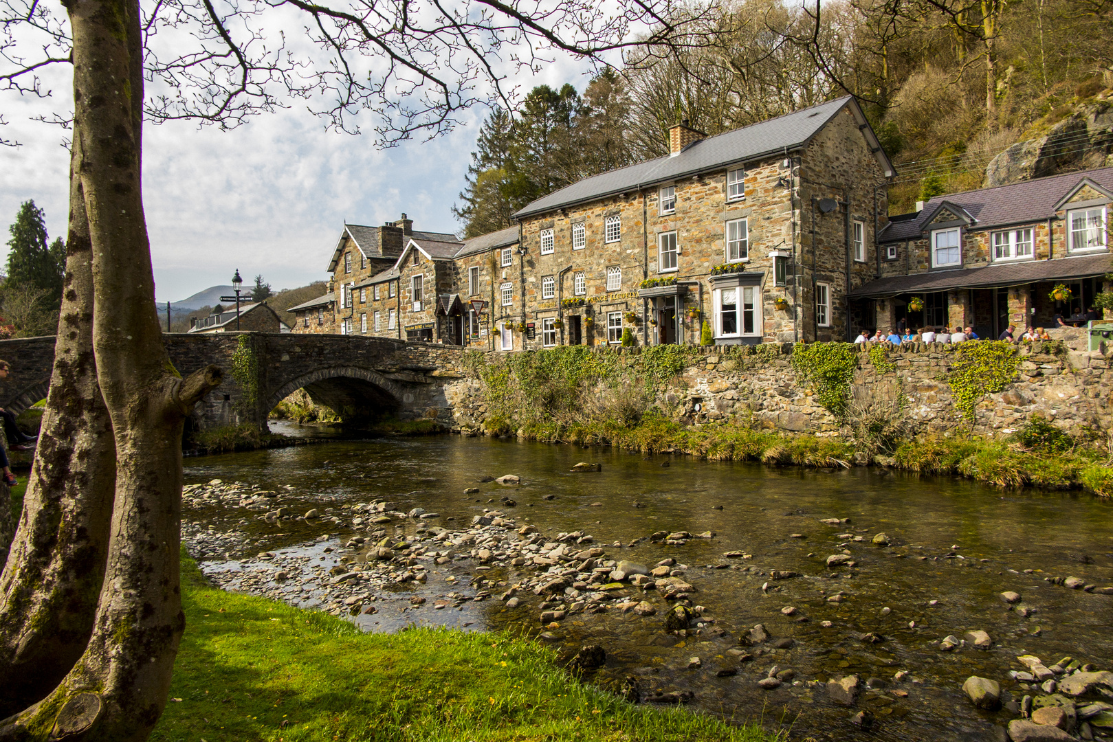
[[887, 442], [887, 453], [841, 436], [787, 436], [733, 423], [689, 427], [652, 412], [637, 422], [595, 419], [525, 425], [526, 438], [549, 443], [611, 445], [647, 454], [683, 453], [713, 461], [831, 467], [856, 461], [923, 474], [957, 474], [1003, 487], [1085, 488], [1113, 496], [1109, 454], [1030, 425], [1011, 441], [966, 436], [917, 436]]

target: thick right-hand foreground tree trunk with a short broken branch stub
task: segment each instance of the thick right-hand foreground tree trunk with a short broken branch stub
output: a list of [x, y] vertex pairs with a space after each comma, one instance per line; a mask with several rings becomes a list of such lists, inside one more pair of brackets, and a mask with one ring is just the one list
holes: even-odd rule
[[140, 192], [138, 0], [70, 0], [78, 172], [92, 243], [92, 346], [116, 443], [108, 560], [85, 653], [0, 739], [145, 740], [185, 626], [178, 583], [181, 427], [220, 382], [185, 382], [162, 345]]

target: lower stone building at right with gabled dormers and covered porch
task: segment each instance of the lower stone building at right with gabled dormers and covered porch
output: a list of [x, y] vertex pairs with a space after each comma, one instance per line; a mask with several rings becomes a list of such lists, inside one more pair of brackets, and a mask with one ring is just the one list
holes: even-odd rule
[[[881, 329], [1055, 327], [1109, 288], [1111, 202], [1113, 168], [933, 198], [881, 229], [879, 277], [851, 289], [851, 306]], [[1060, 284], [1070, 299], [1052, 299]]]

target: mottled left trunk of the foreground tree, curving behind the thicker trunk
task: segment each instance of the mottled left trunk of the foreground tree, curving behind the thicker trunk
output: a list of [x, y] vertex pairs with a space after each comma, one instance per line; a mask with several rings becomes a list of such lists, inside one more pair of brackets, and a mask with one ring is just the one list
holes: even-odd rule
[[92, 249], [75, 177], [80, 142], [75, 133], [50, 394], [19, 532], [0, 577], [0, 718], [42, 699], [81, 656], [108, 553], [116, 456], [92, 354]]

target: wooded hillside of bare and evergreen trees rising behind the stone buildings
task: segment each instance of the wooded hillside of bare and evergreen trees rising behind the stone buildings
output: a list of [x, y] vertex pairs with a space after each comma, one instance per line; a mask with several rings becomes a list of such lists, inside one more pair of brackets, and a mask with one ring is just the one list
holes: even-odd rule
[[582, 96], [541, 86], [489, 116], [454, 209], [465, 233], [667, 154], [682, 118], [716, 135], [848, 92], [897, 166], [894, 214], [986, 185], [987, 166], [1013, 146], [1006, 164], [1046, 162], [995, 162], [988, 185], [1111, 161], [1113, 0], [740, 0], [703, 23], [711, 44], [628, 55]]

